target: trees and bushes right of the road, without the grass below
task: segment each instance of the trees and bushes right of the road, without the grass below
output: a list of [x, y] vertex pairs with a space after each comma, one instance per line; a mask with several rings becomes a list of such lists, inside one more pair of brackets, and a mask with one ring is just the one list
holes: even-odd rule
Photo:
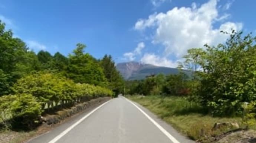
[[127, 93], [190, 95], [212, 115], [242, 115], [243, 103], [256, 100], [256, 37], [234, 31], [229, 35], [226, 43], [188, 50], [180, 67], [192, 77], [181, 73], [166, 76], [164, 82], [158, 77], [128, 81]]

